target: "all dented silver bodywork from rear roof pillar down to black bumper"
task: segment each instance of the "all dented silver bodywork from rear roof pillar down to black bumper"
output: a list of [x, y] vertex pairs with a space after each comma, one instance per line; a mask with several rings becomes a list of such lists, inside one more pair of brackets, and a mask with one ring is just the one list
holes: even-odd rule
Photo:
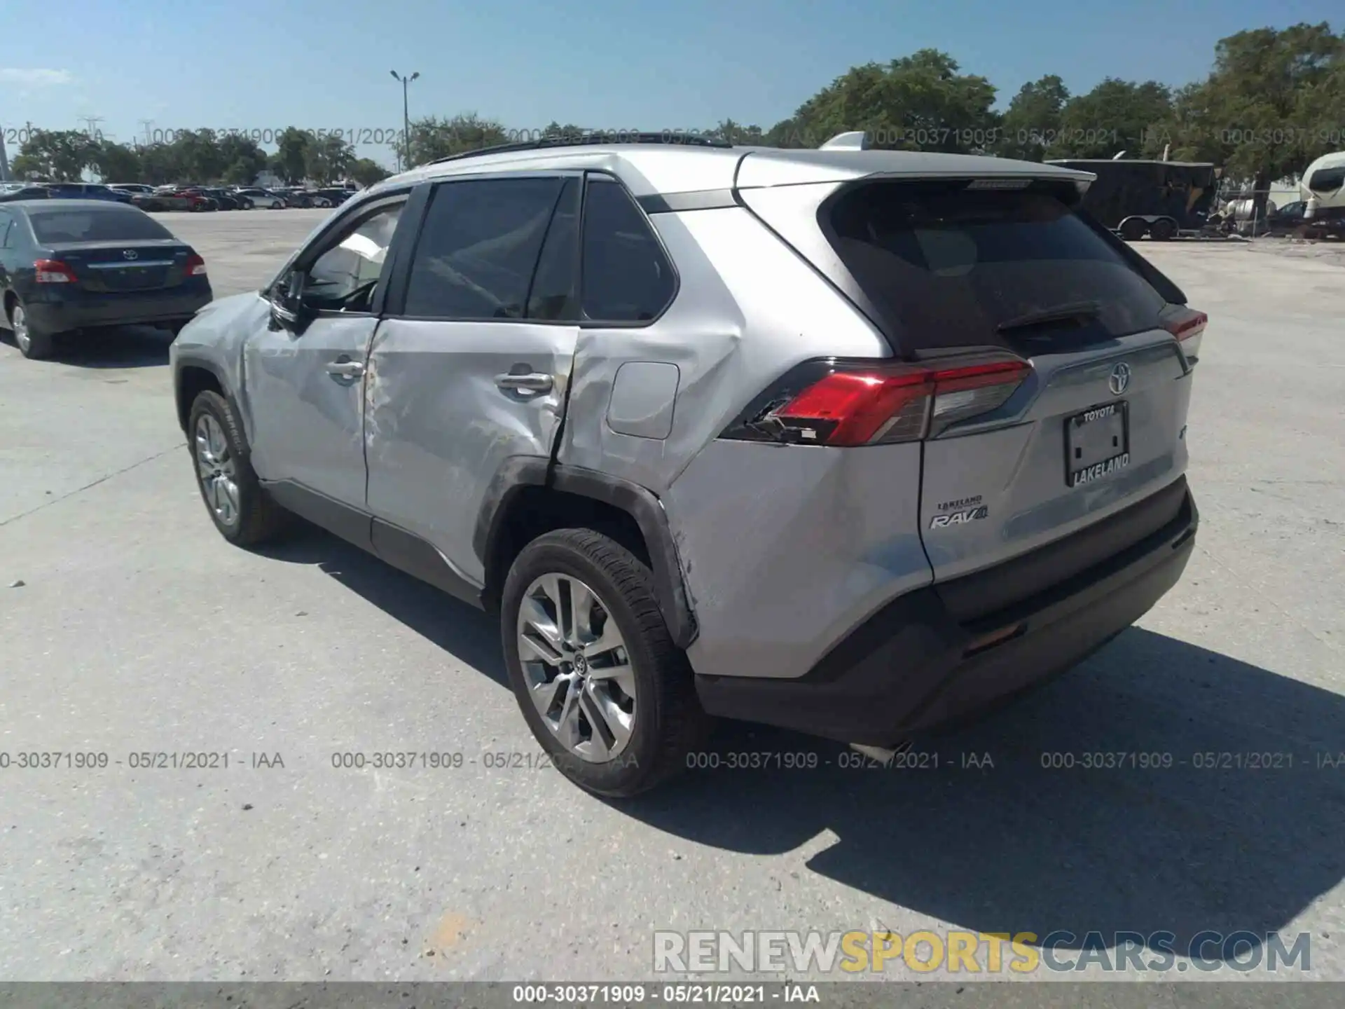
[[[718, 441], [802, 361], [886, 342], [741, 207], [654, 214], [679, 277], [655, 323], [584, 328], [560, 460], [658, 495], [699, 626], [698, 673], [799, 675], [878, 605], [927, 584], [919, 445], [858, 452]], [[679, 371], [667, 439], [607, 424], [627, 362]]]

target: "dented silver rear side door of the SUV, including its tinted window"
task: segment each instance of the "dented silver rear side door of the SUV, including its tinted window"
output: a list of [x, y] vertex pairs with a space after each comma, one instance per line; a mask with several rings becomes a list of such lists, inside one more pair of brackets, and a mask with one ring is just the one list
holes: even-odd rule
[[564, 416], [578, 190], [566, 174], [433, 184], [370, 348], [369, 510], [477, 585], [494, 478], [511, 457], [549, 459]]

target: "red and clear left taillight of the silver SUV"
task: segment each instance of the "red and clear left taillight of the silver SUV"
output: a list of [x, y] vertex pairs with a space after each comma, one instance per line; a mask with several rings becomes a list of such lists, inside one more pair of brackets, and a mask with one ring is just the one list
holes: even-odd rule
[[1014, 357], [933, 365], [810, 361], [759, 397], [724, 437], [804, 445], [886, 445], [937, 437], [1002, 406], [1032, 366]]

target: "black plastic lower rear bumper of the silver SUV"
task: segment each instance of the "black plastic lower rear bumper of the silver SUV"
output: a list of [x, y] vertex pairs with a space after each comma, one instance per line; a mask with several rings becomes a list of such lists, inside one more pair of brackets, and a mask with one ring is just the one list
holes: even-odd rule
[[726, 718], [870, 745], [990, 706], [1076, 665], [1177, 584], [1198, 523], [1194, 499], [1181, 490], [1162, 527], [1029, 599], [959, 620], [948, 601], [955, 592], [917, 589], [798, 679], [698, 675], [701, 704]]

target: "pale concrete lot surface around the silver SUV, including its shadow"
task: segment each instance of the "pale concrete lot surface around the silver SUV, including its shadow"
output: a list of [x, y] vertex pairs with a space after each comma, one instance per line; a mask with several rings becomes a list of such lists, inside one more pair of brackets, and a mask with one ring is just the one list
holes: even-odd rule
[[[325, 214], [161, 219], [227, 295]], [[717, 767], [627, 803], [539, 767], [482, 613], [316, 530], [214, 531], [165, 335], [30, 362], [4, 334], [0, 979], [654, 978], [655, 930], [764, 928], [1065, 930], [1065, 962], [1306, 932], [1307, 971], [1163, 979], [1345, 979], [1345, 269], [1139, 248], [1212, 319], [1184, 581], [913, 767], [725, 725]], [[43, 752], [93, 765], [19, 767]]]

